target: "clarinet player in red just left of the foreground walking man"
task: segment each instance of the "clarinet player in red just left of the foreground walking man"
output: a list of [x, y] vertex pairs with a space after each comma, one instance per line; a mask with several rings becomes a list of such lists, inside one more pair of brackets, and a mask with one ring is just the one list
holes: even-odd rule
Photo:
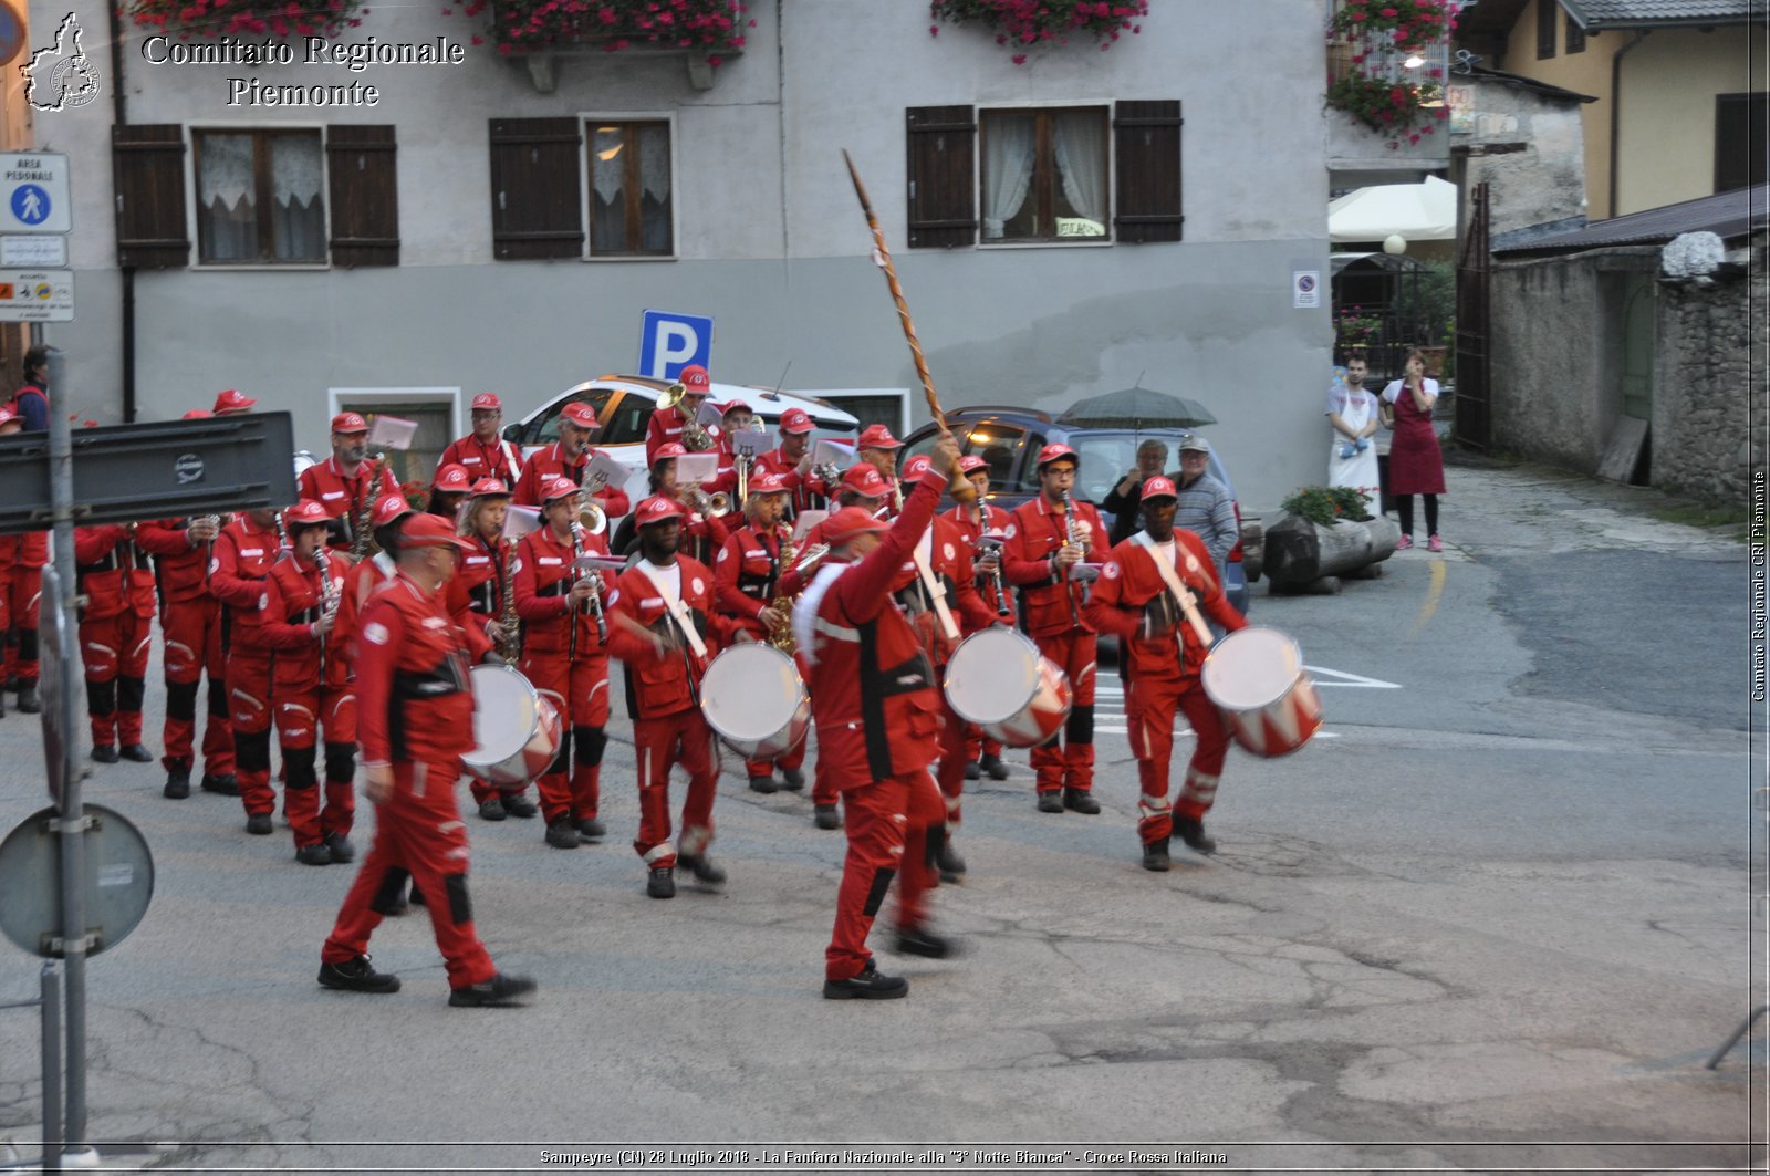
[[[356, 857], [356, 694], [336, 618], [350, 561], [326, 551], [326, 508], [308, 499], [283, 512], [290, 551], [266, 579], [264, 639], [274, 650], [271, 707], [283, 751], [283, 815], [304, 866]], [[320, 808], [315, 742], [326, 731]]]

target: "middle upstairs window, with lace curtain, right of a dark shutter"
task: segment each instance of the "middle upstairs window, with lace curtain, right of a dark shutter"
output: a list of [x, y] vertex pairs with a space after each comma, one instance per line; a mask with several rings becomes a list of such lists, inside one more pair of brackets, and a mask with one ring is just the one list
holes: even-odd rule
[[671, 257], [669, 122], [586, 124], [591, 257]]

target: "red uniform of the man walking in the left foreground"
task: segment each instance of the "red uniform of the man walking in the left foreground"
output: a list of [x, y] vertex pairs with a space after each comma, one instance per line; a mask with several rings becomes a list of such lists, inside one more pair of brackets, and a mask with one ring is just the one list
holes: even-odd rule
[[320, 958], [349, 963], [405, 898], [425, 898], [450, 986], [497, 974], [467, 901], [467, 827], [455, 804], [460, 754], [473, 747], [469, 662], [485, 634], [450, 622], [441, 593], [398, 576], [363, 609], [356, 684], [363, 763], [393, 767], [393, 795], [377, 806], [375, 843], [363, 859]]

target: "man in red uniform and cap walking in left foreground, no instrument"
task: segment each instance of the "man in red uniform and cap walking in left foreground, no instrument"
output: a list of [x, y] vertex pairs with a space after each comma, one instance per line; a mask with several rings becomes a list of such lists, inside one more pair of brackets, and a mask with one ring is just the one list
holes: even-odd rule
[[467, 898], [467, 827], [455, 804], [460, 754], [473, 747], [467, 669], [490, 643], [451, 623], [442, 606], [442, 584], [466, 547], [455, 528], [412, 515], [398, 540], [398, 574], [363, 609], [356, 664], [363, 795], [377, 809], [375, 839], [320, 949], [319, 981], [347, 992], [400, 990], [398, 976], [377, 972], [366, 951], [412, 878], [448, 967], [448, 1002], [512, 1004], [535, 981], [499, 972], [480, 942]]

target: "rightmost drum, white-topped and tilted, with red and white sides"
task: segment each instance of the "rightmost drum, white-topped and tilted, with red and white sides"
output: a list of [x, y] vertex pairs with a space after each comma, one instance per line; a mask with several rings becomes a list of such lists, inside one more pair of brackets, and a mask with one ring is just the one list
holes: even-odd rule
[[1205, 657], [1205, 696], [1244, 749], [1273, 760], [1310, 742], [1322, 724], [1315, 684], [1297, 643], [1260, 625], [1237, 629]]

